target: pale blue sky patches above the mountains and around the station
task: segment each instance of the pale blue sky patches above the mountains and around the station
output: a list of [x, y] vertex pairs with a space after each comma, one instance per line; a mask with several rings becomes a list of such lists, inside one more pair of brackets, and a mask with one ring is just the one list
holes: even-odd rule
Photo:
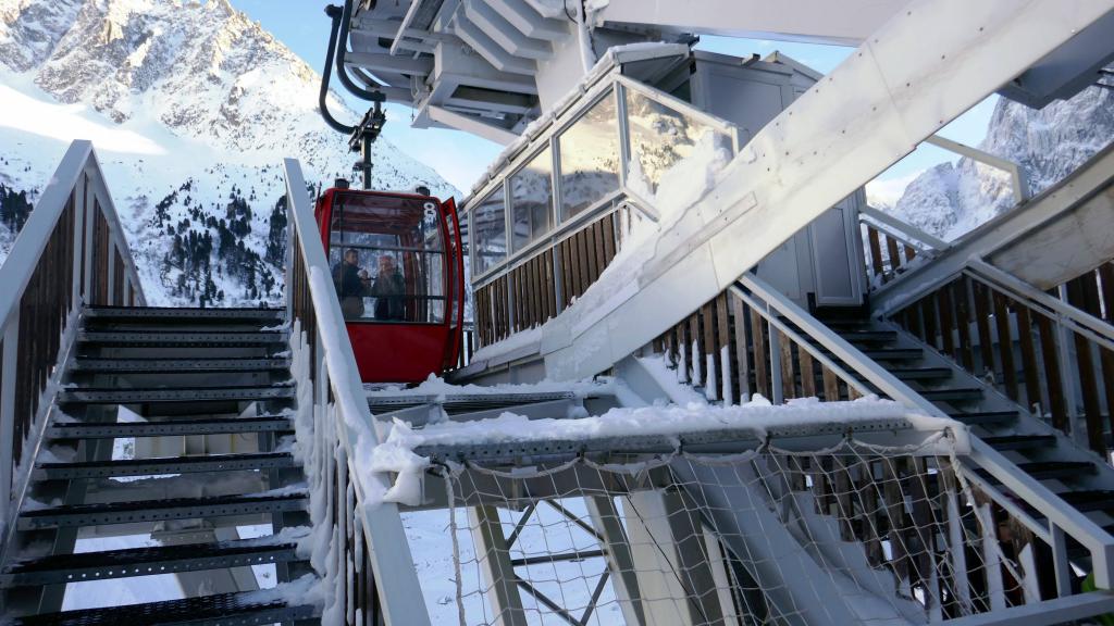
[[[329, 18], [323, 2], [306, 0], [231, 0], [232, 4], [263, 25], [314, 69], [321, 71], [329, 41]], [[334, 0], [339, 1], [339, 0]], [[697, 48], [735, 56], [769, 55], [779, 50], [820, 72], [827, 74], [840, 63], [852, 48], [817, 46], [784, 41], [704, 37]], [[338, 92], [343, 88], [338, 86]], [[987, 121], [994, 111], [996, 96], [979, 104], [951, 123], [940, 134], [965, 144], [977, 144], [986, 135]], [[365, 104], [351, 98], [349, 104], [362, 113]], [[410, 107], [389, 105], [383, 135], [414, 158], [426, 163], [465, 194], [487, 169], [501, 147], [466, 133], [414, 129], [410, 127]], [[920, 170], [955, 156], [932, 146], [918, 148], [889, 170], [880, 180], [900, 188]]]

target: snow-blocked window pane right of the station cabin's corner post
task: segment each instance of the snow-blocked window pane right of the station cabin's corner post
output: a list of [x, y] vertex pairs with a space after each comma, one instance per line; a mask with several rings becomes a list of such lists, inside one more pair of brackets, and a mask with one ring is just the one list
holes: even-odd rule
[[[696, 143], [712, 128], [678, 113], [652, 98], [626, 90], [627, 119], [631, 135], [631, 160], [627, 166], [628, 184], [636, 187], [639, 177], [657, 192], [662, 176], [693, 153]], [[716, 144], [726, 141], [725, 135]]]

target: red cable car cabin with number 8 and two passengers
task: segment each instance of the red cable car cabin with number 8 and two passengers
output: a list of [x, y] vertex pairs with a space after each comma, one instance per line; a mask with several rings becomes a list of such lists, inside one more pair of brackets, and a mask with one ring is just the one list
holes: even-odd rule
[[465, 267], [452, 198], [334, 187], [315, 217], [364, 382], [420, 382], [456, 364]]

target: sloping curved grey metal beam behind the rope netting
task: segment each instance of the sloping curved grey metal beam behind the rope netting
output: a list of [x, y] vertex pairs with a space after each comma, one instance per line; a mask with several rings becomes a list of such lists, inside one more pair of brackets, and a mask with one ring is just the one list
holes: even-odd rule
[[[786, 624], [922, 624], [898, 610], [898, 598], [860, 585], [802, 546], [751, 485], [759, 477], [746, 466], [716, 467], [674, 461], [685, 491], [713, 522], [716, 536], [742, 558], [743, 566]], [[747, 478], [749, 477], [749, 478]], [[740, 480], [740, 479], [743, 480]], [[745, 480], [745, 482], [744, 482]], [[824, 571], [828, 576], [817, 576]], [[802, 585], [801, 581], [808, 581]], [[873, 586], [877, 588], [877, 586]], [[851, 601], [853, 600], [853, 601]]]

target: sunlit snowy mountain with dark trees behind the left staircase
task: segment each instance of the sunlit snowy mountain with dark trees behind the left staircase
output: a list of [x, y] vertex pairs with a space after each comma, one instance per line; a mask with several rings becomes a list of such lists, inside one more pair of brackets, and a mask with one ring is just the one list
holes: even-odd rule
[[[277, 302], [282, 158], [324, 186], [356, 158], [319, 87], [227, 0], [0, 0], [0, 257], [69, 140], [89, 138], [150, 303]], [[374, 163], [375, 188], [458, 195], [385, 139]]]

